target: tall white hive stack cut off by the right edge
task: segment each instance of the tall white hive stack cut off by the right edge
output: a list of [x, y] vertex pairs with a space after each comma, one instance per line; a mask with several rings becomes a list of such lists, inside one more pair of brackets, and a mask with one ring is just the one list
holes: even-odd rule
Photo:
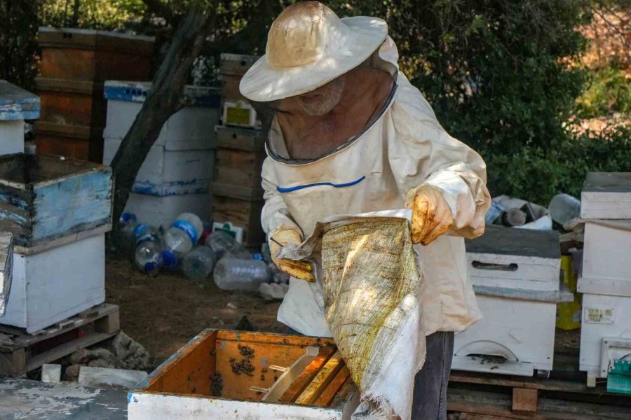
[[581, 195], [585, 220], [581, 370], [588, 384], [608, 378], [611, 391], [626, 384], [631, 354], [631, 173], [588, 174]]

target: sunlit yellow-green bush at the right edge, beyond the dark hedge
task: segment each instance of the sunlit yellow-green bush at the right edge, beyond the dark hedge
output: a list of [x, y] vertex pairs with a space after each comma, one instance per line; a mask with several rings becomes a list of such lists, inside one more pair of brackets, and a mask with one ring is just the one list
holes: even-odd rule
[[585, 90], [576, 101], [581, 118], [622, 113], [631, 116], [631, 78], [620, 69], [608, 67], [590, 73]]

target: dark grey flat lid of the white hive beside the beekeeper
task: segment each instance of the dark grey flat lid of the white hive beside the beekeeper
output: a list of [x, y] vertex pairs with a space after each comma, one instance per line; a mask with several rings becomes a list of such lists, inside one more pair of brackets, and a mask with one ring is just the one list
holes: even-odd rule
[[484, 235], [466, 239], [468, 253], [517, 255], [523, 257], [561, 258], [559, 233], [554, 230], [531, 230], [487, 225]]

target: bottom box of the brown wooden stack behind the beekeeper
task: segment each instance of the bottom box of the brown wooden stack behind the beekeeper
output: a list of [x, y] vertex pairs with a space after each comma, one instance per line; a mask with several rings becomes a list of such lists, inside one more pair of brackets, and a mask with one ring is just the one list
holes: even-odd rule
[[245, 246], [260, 248], [265, 241], [265, 232], [261, 226], [264, 204], [262, 200], [239, 200], [215, 194], [212, 200], [212, 220], [219, 223], [230, 222], [243, 228]]

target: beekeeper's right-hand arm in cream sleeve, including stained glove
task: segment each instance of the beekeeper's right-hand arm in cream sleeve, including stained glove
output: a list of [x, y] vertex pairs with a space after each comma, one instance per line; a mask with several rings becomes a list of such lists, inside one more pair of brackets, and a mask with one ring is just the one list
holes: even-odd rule
[[388, 139], [388, 151], [400, 193], [413, 210], [413, 241], [482, 235], [491, 197], [480, 155], [445, 132], [407, 80], [393, 104], [393, 123], [396, 136]]

